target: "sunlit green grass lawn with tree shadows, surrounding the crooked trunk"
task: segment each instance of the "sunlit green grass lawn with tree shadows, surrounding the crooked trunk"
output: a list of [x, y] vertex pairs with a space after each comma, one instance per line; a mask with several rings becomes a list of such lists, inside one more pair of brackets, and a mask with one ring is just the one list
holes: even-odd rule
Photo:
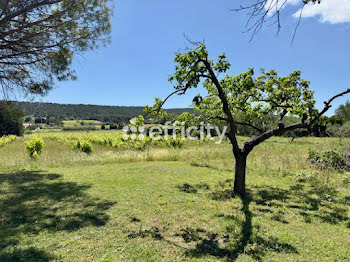
[[0, 261], [350, 261], [350, 174], [306, 162], [350, 140], [269, 140], [243, 200], [227, 142], [88, 156], [45, 140], [32, 161], [25, 140], [0, 149]]

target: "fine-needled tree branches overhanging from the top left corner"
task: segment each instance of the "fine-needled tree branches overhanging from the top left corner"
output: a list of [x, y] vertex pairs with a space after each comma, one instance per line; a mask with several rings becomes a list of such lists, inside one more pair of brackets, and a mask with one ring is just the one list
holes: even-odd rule
[[44, 94], [75, 55], [109, 41], [111, 0], [0, 0], [0, 86]]

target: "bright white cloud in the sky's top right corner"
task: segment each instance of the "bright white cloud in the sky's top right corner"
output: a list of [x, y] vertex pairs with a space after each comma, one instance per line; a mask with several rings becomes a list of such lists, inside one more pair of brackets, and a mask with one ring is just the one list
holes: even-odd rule
[[[294, 17], [299, 17], [300, 11], [301, 9], [294, 14]], [[319, 17], [320, 22], [331, 24], [350, 22], [350, 0], [323, 0], [321, 4], [306, 5], [302, 17]]]

